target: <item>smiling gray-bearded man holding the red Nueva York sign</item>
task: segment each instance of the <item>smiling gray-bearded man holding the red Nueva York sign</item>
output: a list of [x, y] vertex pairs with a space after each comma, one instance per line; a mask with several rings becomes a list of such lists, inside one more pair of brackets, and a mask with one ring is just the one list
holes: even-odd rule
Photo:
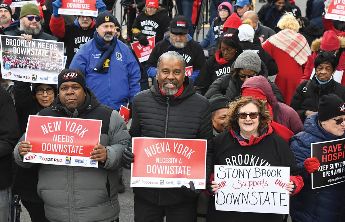
[[[129, 133], [132, 137], [206, 139], [208, 181], [213, 153], [209, 102], [196, 93], [193, 81], [185, 76], [186, 63], [178, 52], [162, 54], [157, 63], [152, 87], [134, 97]], [[133, 158], [131, 150], [125, 149], [125, 166], [130, 167]], [[190, 189], [133, 188], [135, 221], [160, 221], [166, 216], [167, 221], [194, 222], [201, 191], [192, 181], [189, 185]]]

